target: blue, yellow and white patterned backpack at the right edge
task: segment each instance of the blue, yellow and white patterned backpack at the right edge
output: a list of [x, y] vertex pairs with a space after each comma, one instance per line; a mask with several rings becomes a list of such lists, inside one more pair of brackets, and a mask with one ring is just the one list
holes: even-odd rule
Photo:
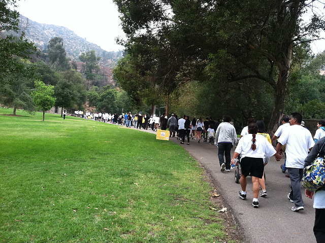
[[[320, 151], [322, 151], [324, 145], [325, 143]], [[319, 153], [314, 162], [304, 168], [303, 179], [301, 180], [303, 187], [312, 192], [321, 189], [325, 185], [325, 159], [318, 157]]]

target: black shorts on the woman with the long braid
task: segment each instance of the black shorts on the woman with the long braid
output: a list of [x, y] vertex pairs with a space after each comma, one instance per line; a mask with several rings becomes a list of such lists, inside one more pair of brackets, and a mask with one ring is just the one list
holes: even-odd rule
[[264, 173], [263, 158], [244, 157], [240, 160], [244, 177], [252, 176], [262, 178]]

